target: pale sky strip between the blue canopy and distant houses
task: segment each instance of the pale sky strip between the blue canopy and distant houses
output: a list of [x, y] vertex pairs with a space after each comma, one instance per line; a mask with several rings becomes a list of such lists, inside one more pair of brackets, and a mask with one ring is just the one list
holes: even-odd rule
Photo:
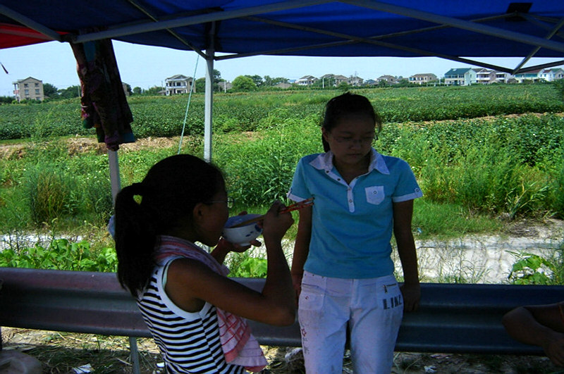
[[[179, 51], [114, 41], [114, 51], [122, 82], [132, 88], [161, 86], [167, 77], [183, 74], [204, 77], [206, 63], [193, 51]], [[556, 61], [556, 58], [533, 58], [526, 66]], [[479, 61], [515, 68], [521, 58], [480, 58]], [[58, 89], [79, 85], [76, 62], [67, 43], [47, 42], [0, 49], [0, 96], [13, 96], [13, 82], [34, 77]], [[305, 75], [357, 75], [364, 80], [381, 75], [409, 77], [417, 73], [434, 73], [437, 77], [450, 68], [471, 68], [465, 63], [434, 57], [302, 57], [255, 56], [214, 62], [221, 77], [233, 81], [238, 75], [285, 77], [297, 80]]]

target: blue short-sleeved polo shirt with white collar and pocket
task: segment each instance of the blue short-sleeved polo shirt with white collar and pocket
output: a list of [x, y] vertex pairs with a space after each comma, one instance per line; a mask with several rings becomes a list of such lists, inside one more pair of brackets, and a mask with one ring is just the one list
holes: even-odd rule
[[312, 238], [304, 270], [332, 278], [393, 274], [393, 202], [422, 197], [415, 175], [397, 157], [372, 149], [368, 173], [350, 185], [333, 167], [333, 154], [310, 154], [295, 169], [288, 198], [314, 197]]

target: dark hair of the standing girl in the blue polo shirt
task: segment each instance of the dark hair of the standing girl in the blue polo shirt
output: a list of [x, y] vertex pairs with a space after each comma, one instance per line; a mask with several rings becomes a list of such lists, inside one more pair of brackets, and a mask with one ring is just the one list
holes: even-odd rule
[[[374, 107], [370, 104], [370, 101], [365, 96], [351, 94], [350, 92], [345, 92], [327, 101], [321, 120], [321, 127], [330, 132], [341, 118], [353, 113], [366, 115], [371, 118], [376, 126], [376, 133], [382, 130], [382, 120], [378, 113], [374, 111]], [[325, 141], [323, 136], [321, 136], [321, 142], [323, 142], [323, 150], [329, 151], [329, 144]]]

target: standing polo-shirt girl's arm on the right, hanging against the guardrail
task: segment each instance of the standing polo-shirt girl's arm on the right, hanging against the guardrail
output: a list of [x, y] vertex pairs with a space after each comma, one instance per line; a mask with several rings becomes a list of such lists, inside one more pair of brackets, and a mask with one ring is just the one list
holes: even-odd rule
[[415, 240], [411, 232], [412, 216], [413, 200], [393, 203], [393, 235], [396, 237], [403, 268], [402, 294], [405, 311], [416, 311], [421, 298]]

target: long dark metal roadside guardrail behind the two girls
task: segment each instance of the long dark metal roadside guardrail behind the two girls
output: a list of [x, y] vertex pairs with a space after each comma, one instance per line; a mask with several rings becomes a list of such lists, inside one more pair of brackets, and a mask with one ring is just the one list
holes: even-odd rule
[[[235, 278], [260, 290], [264, 279]], [[115, 273], [0, 268], [0, 326], [130, 337], [151, 337], [133, 297]], [[424, 283], [416, 313], [406, 313], [396, 351], [543, 354], [511, 339], [501, 317], [515, 306], [562, 301], [564, 286]], [[300, 347], [298, 323], [275, 327], [250, 321], [260, 344]]]

